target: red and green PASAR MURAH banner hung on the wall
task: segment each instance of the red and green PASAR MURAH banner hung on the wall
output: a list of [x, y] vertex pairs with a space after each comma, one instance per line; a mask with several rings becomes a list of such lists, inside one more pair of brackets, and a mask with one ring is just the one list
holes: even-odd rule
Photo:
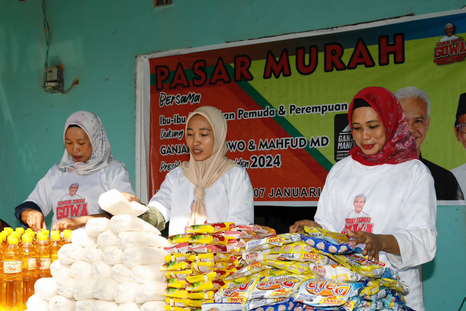
[[[423, 101], [419, 115], [408, 118], [410, 131], [434, 178], [453, 178], [449, 187], [457, 187], [448, 171], [466, 163], [454, 130], [459, 95], [466, 92], [466, 14], [378, 25], [150, 58], [149, 195], [189, 159], [189, 113], [215, 106], [227, 120], [226, 156], [247, 169], [256, 205], [316, 205], [332, 165], [355, 144], [348, 106], [366, 86], [426, 92], [430, 116]], [[439, 200], [462, 199], [461, 191], [439, 197], [440, 191]]]

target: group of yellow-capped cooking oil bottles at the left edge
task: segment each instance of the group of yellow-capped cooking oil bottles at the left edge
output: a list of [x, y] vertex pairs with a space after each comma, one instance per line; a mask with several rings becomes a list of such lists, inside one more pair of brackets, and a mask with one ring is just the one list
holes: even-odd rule
[[52, 231], [52, 241], [45, 229], [37, 237], [29, 228], [4, 229], [0, 233], [0, 310], [25, 310], [36, 281], [50, 276], [51, 252], [62, 246], [60, 233]]

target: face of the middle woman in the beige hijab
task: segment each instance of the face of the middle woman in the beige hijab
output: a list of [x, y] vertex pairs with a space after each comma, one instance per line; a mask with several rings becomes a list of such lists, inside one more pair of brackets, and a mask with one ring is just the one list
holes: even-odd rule
[[212, 155], [213, 144], [212, 126], [200, 114], [194, 115], [186, 128], [186, 144], [192, 157], [196, 161], [204, 161]]

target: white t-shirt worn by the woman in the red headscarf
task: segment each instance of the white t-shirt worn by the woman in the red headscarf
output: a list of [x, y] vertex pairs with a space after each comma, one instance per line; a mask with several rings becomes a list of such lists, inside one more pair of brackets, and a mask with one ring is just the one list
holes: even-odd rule
[[[368, 216], [348, 218], [361, 193]], [[330, 170], [315, 214], [315, 221], [331, 231], [349, 228], [395, 236], [401, 256], [380, 252], [379, 260], [397, 269], [410, 288], [407, 305], [417, 311], [425, 310], [419, 268], [437, 251], [436, 218], [434, 181], [422, 162], [365, 166], [351, 156]]]

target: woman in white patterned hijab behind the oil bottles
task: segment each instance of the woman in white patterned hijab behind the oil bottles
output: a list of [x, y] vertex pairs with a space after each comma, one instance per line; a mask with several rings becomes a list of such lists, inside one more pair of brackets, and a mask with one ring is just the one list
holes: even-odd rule
[[102, 121], [95, 113], [77, 111], [65, 123], [65, 152], [37, 183], [15, 216], [34, 231], [46, 228], [45, 218], [54, 212], [52, 230], [76, 229], [95, 217], [108, 214], [97, 204], [110, 189], [134, 193], [130, 176], [122, 162], [116, 161]]

